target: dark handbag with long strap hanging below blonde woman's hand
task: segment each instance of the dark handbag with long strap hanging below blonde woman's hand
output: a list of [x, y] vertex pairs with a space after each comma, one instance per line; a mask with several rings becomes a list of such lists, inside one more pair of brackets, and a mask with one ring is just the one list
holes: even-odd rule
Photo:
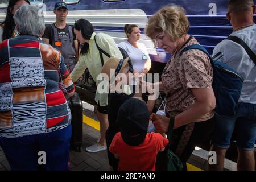
[[181, 171], [183, 164], [180, 158], [170, 150], [170, 141], [172, 138], [172, 131], [174, 129], [174, 118], [170, 119], [167, 139], [169, 144], [163, 152], [158, 152], [156, 156], [156, 171]]

